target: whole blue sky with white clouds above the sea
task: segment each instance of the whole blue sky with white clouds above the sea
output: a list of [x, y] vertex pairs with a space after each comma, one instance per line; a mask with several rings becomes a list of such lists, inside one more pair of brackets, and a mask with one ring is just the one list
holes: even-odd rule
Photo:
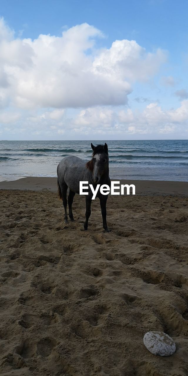
[[0, 0], [0, 139], [187, 139], [187, 0]]

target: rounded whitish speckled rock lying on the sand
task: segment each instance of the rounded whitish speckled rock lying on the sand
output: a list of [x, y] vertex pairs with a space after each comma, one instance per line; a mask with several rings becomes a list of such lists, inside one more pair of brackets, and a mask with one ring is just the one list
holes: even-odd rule
[[173, 339], [163, 332], [147, 332], [143, 341], [146, 349], [154, 355], [170, 356], [176, 351]]

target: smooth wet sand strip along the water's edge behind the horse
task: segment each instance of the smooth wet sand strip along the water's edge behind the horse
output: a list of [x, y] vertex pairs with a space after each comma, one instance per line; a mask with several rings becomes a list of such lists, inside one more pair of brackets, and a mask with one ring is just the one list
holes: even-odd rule
[[[165, 180], [125, 180], [111, 179], [120, 181], [120, 184], [134, 184], [136, 195], [152, 196], [152, 195], [172, 195], [188, 197], [188, 182], [165, 181]], [[29, 190], [57, 191], [56, 177], [24, 177], [17, 180], [0, 182], [0, 190]]]

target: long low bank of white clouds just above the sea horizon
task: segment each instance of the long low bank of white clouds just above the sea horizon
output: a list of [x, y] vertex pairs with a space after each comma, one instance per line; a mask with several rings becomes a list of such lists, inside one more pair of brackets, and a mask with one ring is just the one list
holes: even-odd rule
[[[16, 117], [17, 114], [12, 114]], [[18, 116], [18, 115], [17, 115]], [[66, 138], [126, 138], [131, 135], [173, 135], [188, 133], [188, 100], [183, 100], [177, 109], [164, 110], [158, 103], [150, 103], [143, 111], [120, 107], [96, 106], [83, 109], [70, 117], [62, 109], [45, 111], [40, 115], [15, 118], [14, 126], [7, 127], [6, 114], [0, 115], [4, 130], [12, 134], [27, 134], [31, 137]], [[8, 118], [9, 120], [9, 118]], [[19, 121], [19, 126], [18, 121]], [[81, 135], [81, 137], [80, 137]], [[19, 136], [18, 136], [19, 138]]]

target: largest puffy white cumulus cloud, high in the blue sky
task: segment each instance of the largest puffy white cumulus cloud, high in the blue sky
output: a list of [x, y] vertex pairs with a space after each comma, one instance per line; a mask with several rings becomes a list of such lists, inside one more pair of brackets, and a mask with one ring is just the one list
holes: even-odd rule
[[135, 41], [121, 40], [97, 50], [100, 30], [88, 24], [62, 36], [14, 38], [0, 20], [0, 102], [20, 109], [78, 108], [127, 103], [134, 80], [145, 81], [166, 59]]

